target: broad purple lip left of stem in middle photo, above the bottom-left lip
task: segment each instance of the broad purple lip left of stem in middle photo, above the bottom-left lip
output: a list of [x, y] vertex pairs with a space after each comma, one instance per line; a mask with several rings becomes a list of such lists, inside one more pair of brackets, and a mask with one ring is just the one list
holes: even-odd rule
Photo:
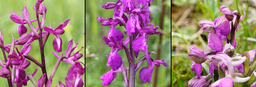
[[114, 52], [112, 55], [112, 59], [110, 61], [110, 63], [112, 64], [112, 70], [113, 71], [118, 70], [121, 67], [122, 62], [123, 60], [121, 56], [117, 52]]

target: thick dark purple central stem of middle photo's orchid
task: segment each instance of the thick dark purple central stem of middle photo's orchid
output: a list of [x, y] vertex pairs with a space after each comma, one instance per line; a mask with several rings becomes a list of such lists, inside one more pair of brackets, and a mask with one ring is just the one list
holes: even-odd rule
[[128, 86], [129, 87], [134, 87], [135, 84], [135, 74], [134, 74], [134, 55], [135, 52], [132, 49], [132, 42], [134, 40], [134, 34], [132, 34], [132, 36], [130, 36], [130, 54], [132, 57], [132, 61], [129, 62], [129, 81], [128, 81]]

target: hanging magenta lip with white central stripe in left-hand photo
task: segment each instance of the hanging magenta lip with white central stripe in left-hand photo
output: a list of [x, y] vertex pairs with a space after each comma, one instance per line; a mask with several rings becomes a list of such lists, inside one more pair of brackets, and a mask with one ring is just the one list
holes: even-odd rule
[[[58, 36], [58, 35], [57, 35]], [[62, 51], [62, 40], [60, 37], [55, 37], [55, 39], [53, 40], [53, 49], [56, 51], [56, 52], [61, 52]]]

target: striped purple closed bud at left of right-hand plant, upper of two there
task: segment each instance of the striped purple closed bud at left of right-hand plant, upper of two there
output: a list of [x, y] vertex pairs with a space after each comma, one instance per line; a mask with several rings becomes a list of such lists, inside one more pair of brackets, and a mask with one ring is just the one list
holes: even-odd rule
[[190, 53], [188, 53], [188, 57], [192, 61], [198, 64], [201, 64], [206, 61], [204, 50], [195, 46], [189, 46], [188, 48], [191, 49]]

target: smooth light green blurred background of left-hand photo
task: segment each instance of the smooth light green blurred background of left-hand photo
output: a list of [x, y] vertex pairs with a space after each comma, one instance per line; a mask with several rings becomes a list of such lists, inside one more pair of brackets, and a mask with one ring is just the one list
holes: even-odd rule
[[[33, 7], [35, 6], [36, 0], [15, 0], [15, 1], [0, 1], [0, 29], [3, 32], [4, 37], [4, 44], [10, 44], [12, 42], [12, 36], [13, 34], [14, 39], [18, 39], [19, 35], [17, 32], [17, 27], [19, 24], [13, 22], [9, 17], [11, 14], [9, 11], [15, 12], [16, 14], [20, 15], [22, 17], [22, 9], [23, 6], [26, 5], [28, 12], [29, 12], [29, 19], [35, 19], [36, 13]], [[64, 28], [65, 33], [60, 35], [60, 38], [62, 39], [62, 52], [63, 55], [66, 55], [66, 49], [68, 41], [73, 38], [73, 47], [76, 45], [76, 43], [79, 43], [77, 48], [74, 50], [74, 52], [78, 51], [81, 47], [85, 47], [85, 41], [83, 34], [83, 30], [85, 27], [85, 16], [84, 16], [84, 0], [78, 0], [78, 1], [70, 1], [70, 0], [45, 0], [42, 2], [46, 7], [46, 23], [45, 26], [49, 26], [52, 22], [52, 28], [57, 28], [60, 23], [63, 23], [66, 19], [70, 19], [68, 25]], [[39, 19], [41, 21], [42, 15], [39, 15]], [[37, 27], [37, 21], [32, 23], [34, 27]], [[25, 24], [28, 31], [26, 34], [30, 33], [31, 29], [28, 27], [28, 24]], [[39, 31], [38, 31], [39, 32]], [[43, 30], [43, 32], [45, 32]], [[52, 72], [52, 69], [57, 61], [57, 58], [52, 54], [52, 51], [54, 51], [52, 42], [54, 40], [54, 35], [50, 34], [46, 45], [45, 45], [45, 61], [46, 61], [46, 70], [48, 78], [50, 77], [50, 74]], [[19, 50], [23, 46], [16, 46]], [[16, 50], [15, 50], [16, 51]], [[57, 53], [57, 52], [56, 52]], [[79, 59], [79, 61], [85, 63], [85, 48], [83, 48], [79, 53], [83, 54], [83, 57]], [[58, 55], [61, 54], [57, 53]], [[1, 52], [0, 55], [3, 55]], [[8, 55], [6, 53], [6, 55]], [[38, 40], [35, 40], [31, 44], [31, 51], [28, 54], [35, 59], [37, 59], [39, 62], [41, 62], [41, 56], [40, 56], [40, 50], [38, 46]], [[4, 57], [0, 56], [0, 59], [3, 60]], [[81, 64], [82, 65], [82, 64]], [[70, 68], [71, 64], [66, 62], [61, 62], [57, 72], [52, 79], [52, 85], [51, 86], [58, 86], [58, 81], [61, 81], [63, 84], [65, 84], [65, 76], [67, 76], [68, 69]], [[82, 65], [83, 66], [83, 65]], [[84, 66], [83, 66], [84, 67]], [[41, 68], [38, 67], [36, 64], [30, 61], [30, 66], [25, 69], [26, 72], [33, 73], [35, 69], [38, 69], [37, 73], [34, 75], [34, 78], [36, 81], [41, 77], [42, 71]], [[82, 76], [82, 80], [85, 86], [85, 75]], [[1, 80], [1, 87], [7, 87], [8, 83], [5, 78], [0, 78]], [[14, 83], [14, 86], [16, 86], [16, 83]], [[27, 83], [27, 87], [33, 87], [32, 82], [29, 80]]]

